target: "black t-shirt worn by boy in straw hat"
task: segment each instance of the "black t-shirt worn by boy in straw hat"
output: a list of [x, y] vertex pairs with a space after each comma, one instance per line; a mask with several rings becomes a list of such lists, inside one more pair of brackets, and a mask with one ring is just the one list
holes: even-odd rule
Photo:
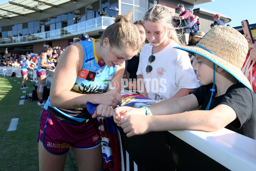
[[[201, 85], [190, 92], [197, 98], [198, 105], [201, 105], [201, 110], [205, 110], [209, 103], [211, 88], [212, 83], [209, 85]], [[209, 110], [220, 104], [230, 106], [236, 111], [238, 118], [225, 128], [256, 139], [256, 94], [241, 83], [231, 85], [226, 93], [221, 96], [215, 97], [216, 93], [217, 89], [213, 93]]]

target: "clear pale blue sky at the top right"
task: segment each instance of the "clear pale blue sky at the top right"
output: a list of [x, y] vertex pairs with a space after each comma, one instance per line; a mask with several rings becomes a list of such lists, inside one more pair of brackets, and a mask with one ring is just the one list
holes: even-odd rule
[[[0, 3], [8, 1], [0, 0]], [[194, 9], [197, 8], [227, 15], [232, 19], [228, 23], [231, 27], [240, 26], [242, 20], [248, 20], [250, 24], [256, 24], [256, 0], [215, 0], [194, 6]]]

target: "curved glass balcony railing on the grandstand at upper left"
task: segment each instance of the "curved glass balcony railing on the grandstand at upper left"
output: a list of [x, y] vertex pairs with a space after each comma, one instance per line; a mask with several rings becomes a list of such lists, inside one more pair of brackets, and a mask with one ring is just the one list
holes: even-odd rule
[[[96, 17], [90, 20], [83, 21], [81, 23], [73, 24], [72, 26], [67, 26], [64, 28], [45, 31], [41, 33], [35, 33], [26, 36], [17, 36], [17, 37], [7, 37], [0, 39], [0, 44], [13, 44], [13, 43], [29, 43], [29, 41], [44, 41], [44, 40], [53, 40], [63, 37], [73, 36], [89, 31], [95, 31], [99, 29], [105, 29], [114, 23], [115, 18], [113, 17]], [[1, 45], [0, 45], [1, 46]]]

